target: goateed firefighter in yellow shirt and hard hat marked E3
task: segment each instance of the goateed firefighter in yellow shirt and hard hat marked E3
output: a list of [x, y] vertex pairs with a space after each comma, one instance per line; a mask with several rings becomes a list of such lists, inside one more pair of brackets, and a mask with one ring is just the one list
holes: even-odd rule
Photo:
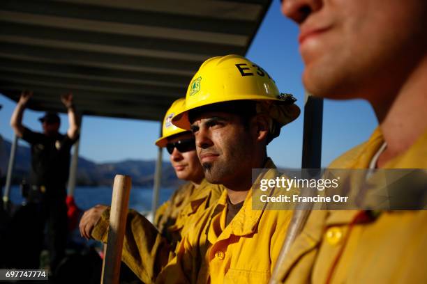
[[226, 190], [192, 220], [157, 283], [267, 283], [291, 212], [253, 210], [259, 182], [252, 170], [266, 169], [257, 179], [277, 175], [267, 144], [299, 112], [292, 95], [279, 93], [269, 74], [244, 57], [202, 64], [188, 86], [186, 110], [172, 123], [192, 130], [205, 178]]

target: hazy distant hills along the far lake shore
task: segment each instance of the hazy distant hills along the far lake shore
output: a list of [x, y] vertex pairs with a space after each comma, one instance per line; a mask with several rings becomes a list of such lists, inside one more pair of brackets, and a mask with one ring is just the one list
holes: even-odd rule
[[[2, 146], [0, 145], [0, 148]], [[11, 143], [3, 141], [3, 150], [0, 149], [0, 170], [4, 182], [4, 176], [8, 166]], [[19, 145], [15, 157], [15, 168], [13, 171], [13, 183], [19, 184], [23, 178], [29, 177], [31, 163], [31, 152], [28, 146]], [[151, 186], [153, 184], [156, 161], [127, 159], [109, 163], [97, 164], [84, 157], [79, 157], [77, 167], [77, 185], [111, 185], [114, 175], [117, 173], [130, 175], [134, 185]], [[163, 162], [162, 186], [168, 187], [179, 184], [170, 163]]]

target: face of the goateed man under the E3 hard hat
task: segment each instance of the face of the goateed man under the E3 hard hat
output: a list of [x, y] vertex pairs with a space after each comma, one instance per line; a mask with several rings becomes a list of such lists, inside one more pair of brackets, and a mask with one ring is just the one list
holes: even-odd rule
[[191, 124], [205, 178], [214, 184], [234, 184], [252, 171], [253, 139], [237, 115], [207, 112]]

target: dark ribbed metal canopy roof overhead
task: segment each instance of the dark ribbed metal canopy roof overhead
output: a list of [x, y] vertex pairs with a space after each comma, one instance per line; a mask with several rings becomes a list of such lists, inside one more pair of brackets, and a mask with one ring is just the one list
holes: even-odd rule
[[0, 93], [29, 108], [161, 120], [209, 57], [246, 54], [271, 0], [0, 1]]

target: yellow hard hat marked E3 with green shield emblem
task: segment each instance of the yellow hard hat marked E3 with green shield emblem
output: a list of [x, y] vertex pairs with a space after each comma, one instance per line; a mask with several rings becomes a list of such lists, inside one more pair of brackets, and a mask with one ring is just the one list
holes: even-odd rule
[[280, 93], [274, 80], [259, 65], [243, 56], [227, 55], [204, 61], [188, 86], [185, 109], [175, 113], [172, 123], [190, 129], [188, 111], [191, 109], [236, 100], [266, 102], [261, 109], [281, 126], [296, 119], [300, 113], [294, 104], [296, 99]]

